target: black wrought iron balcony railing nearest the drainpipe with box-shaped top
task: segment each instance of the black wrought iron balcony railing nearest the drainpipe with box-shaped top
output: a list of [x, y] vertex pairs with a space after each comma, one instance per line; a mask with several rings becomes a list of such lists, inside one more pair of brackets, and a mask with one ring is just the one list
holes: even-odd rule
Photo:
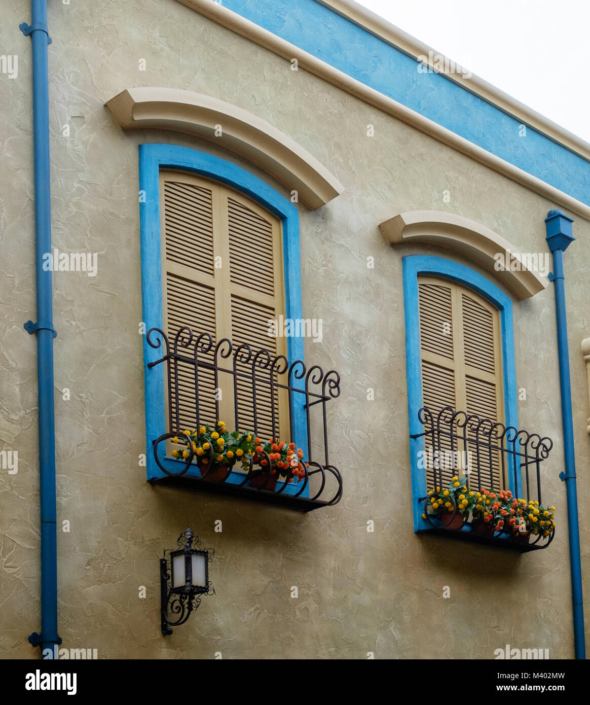
[[[551, 439], [468, 415], [453, 407], [438, 411], [423, 407], [418, 418], [424, 431], [411, 437], [424, 438], [423, 467], [428, 487], [447, 489], [451, 479], [460, 475], [465, 477], [468, 490], [481, 491], [482, 487], [495, 493], [510, 490], [513, 498], [541, 505], [541, 462], [553, 448]], [[423, 516], [429, 525], [422, 530], [520, 552], [546, 548], [555, 535], [554, 529], [548, 536], [543, 536], [543, 532], [529, 535], [529, 532], [523, 540], [518, 540], [508, 527], [496, 529], [493, 520], [487, 529], [481, 526], [482, 522], [469, 520], [471, 515], [460, 512], [453, 496], [448, 499], [453, 508], [441, 520], [429, 513], [429, 496], [418, 498], [421, 506], [424, 503]]]

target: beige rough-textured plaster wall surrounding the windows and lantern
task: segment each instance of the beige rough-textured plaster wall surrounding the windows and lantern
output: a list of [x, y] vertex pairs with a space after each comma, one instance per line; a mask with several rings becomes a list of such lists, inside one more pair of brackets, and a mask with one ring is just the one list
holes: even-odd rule
[[[25, 0], [4, 4], [0, 47], [0, 656], [29, 658], [39, 630], [39, 494], [30, 39]], [[520, 425], [551, 436], [543, 495], [557, 507], [547, 551], [524, 556], [412, 532], [401, 282], [402, 256], [378, 224], [445, 210], [479, 221], [522, 252], [545, 252], [551, 202], [380, 114], [175, 1], [52, 4], [50, 56], [53, 243], [97, 252], [98, 275], [54, 274], [59, 633], [99, 658], [493, 658], [511, 644], [573, 655], [555, 307], [550, 287], [515, 302]], [[145, 59], [146, 71], [138, 71]], [[343, 500], [307, 515], [222, 496], [152, 488], [143, 410], [137, 145], [205, 149], [269, 176], [221, 145], [178, 133], [125, 134], [104, 102], [162, 85], [231, 102], [276, 125], [345, 186], [316, 212], [300, 208], [303, 310], [324, 321], [308, 362], [342, 375], [331, 403], [332, 462]], [[70, 136], [63, 136], [63, 125]], [[374, 125], [374, 137], [366, 126]], [[448, 191], [449, 202], [443, 200]], [[285, 194], [287, 195], [287, 194]], [[566, 255], [580, 503], [590, 491], [588, 399], [579, 343], [590, 335], [590, 223]], [[367, 269], [367, 257], [375, 268]], [[70, 400], [63, 400], [63, 390]], [[367, 401], [367, 388], [375, 400]], [[214, 522], [223, 522], [223, 532]], [[367, 532], [374, 520], [375, 532]], [[190, 526], [216, 549], [216, 596], [171, 637], [159, 633], [158, 559]], [[590, 604], [590, 537], [582, 512]], [[292, 586], [299, 597], [292, 599]], [[140, 586], [147, 597], [139, 598]], [[443, 587], [450, 599], [443, 599]]]

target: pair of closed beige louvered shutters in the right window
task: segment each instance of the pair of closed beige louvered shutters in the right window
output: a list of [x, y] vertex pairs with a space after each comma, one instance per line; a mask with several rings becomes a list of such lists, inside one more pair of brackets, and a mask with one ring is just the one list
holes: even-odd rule
[[[502, 376], [499, 314], [471, 290], [460, 284], [436, 277], [419, 277], [419, 326], [422, 362], [423, 404], [436, 419], [443, 407], [465, 411], [469, 415], [503, 422]], [[486, 428], [489, 428], [487, 426]], [[446, 431], [450, 430], [445, 425]], [[426, 429], [425, 429], [426, 430]], [[457, 428], [454, 429], [457, 434]], [[462, 435], [462, 430], [460, 435]], [[477, 440], [474, 431], [467, 437]], [[480, 436], [481, 441], [487, 441]], [[448, 436], [424, 437], [425, 450], [464, 450], [462, 441], [452, 445]], [[498, 453], [468, 444], [472, 451], [470, 484], [477, 482], [500, 489]], [[427, 456], [430, 458], [430, 456]], [[442, 470], [443, 485], [455, 474], [454, 467]], [[438, 471], [436, 474], [438, 478]], [[426, 482], [434, 485], [434, 469], [426, 464]]]

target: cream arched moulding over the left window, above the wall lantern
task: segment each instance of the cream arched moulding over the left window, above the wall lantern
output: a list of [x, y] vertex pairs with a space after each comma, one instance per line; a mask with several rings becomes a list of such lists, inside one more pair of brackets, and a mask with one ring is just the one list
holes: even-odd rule
[[128, 88], [106, 106], [124, 130], [177, 130], [219, 142], [268, 171], [315, 209], [343, 192], [343, 185], [287, 135], [241, 108], [176, 88]]

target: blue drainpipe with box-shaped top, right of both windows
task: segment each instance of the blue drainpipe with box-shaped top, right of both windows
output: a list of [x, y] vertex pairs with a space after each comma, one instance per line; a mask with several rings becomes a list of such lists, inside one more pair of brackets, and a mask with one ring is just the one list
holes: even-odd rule
[[570, 351], [567, 346], [567, 318], [565, 314], [565, 281], [563, 252], [575, 238], [572, 223], [561, 211], [549, 211], [545, 219], [547, 244], [553, 253], [553, 274], [549, 279], [555, 284], [555, 312], [557, 314], [559, 381], [561, 388], [561, 420], [567, 495], [567, 530], [570, 534], [570, 572], [572, 575], [572, 602], [574, 613], [574, 651], [576, 658], [586, 658], [584, 643], [584, 602], [582, 599], [582, 566], [580, 565], [578, 498], [576, 489], [576, 460], [574, 456], [574, 424], [572, 419], [572, 389], [570, 384]]

